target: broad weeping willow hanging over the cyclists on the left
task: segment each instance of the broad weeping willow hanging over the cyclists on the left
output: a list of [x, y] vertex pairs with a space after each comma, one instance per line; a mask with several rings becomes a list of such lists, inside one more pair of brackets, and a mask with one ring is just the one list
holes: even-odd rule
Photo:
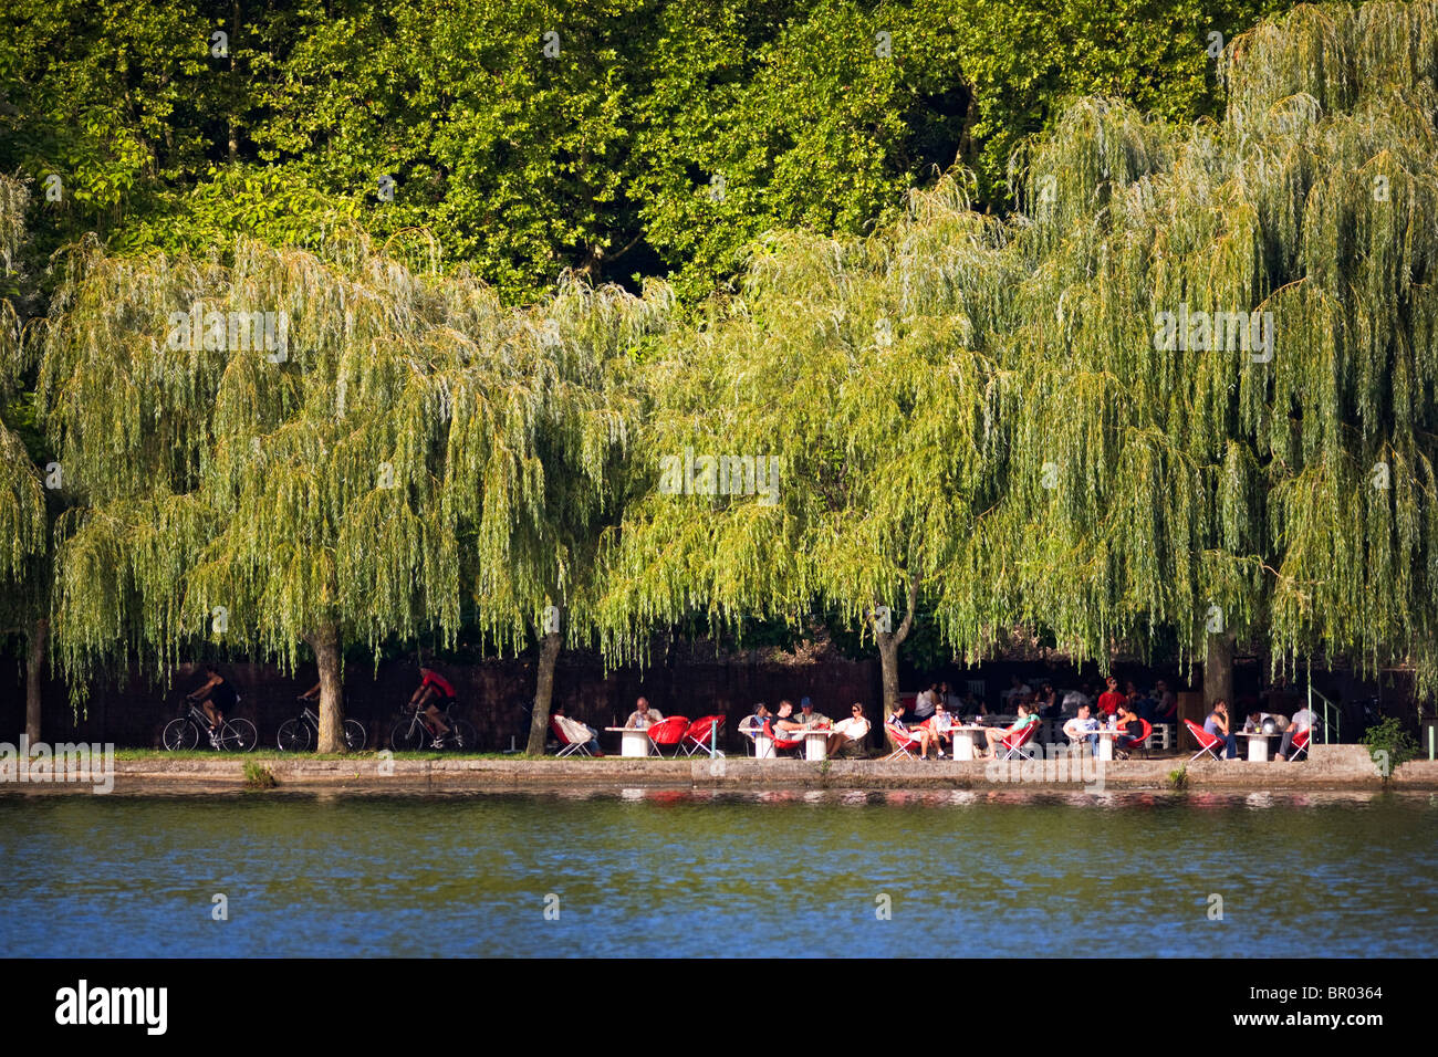
[[569, 288], [519, 312], [436, 256], [418, 236], [240, 242], [227, 266], [76, 247], [37, 391], [82, 467], [55, 590], [72, 686], [207, 640], [292, 669], [303, 644], [339, 752], [347, 643], [466, 623], [518, 649], [555, 603], [581, 633], [575, 526], [626, 437], [598, 354], [663, 298]]

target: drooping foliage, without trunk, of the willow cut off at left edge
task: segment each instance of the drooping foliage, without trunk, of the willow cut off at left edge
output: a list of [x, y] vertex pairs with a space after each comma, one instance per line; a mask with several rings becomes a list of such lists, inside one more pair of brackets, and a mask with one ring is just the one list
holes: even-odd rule
[[[0, 406], [16, 394], [23, 368], [20, 321], [4, 295], [16, 278], [27, 198], [23, 184], [0, 175]], [[0, 421], [0, 592], [4, 595], [0, 613], [4, 617], [27, 611], [36, 601], [36, 565], [43, 559], [47, 539], [40, 475], [19, 434]]]

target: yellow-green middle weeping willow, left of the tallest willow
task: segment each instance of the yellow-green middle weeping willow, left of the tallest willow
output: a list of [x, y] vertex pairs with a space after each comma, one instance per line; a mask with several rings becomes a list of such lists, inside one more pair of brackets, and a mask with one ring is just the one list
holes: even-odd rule
[[920, 600], [1008, 488], [997, 221], [953, 180], [863, 240], [781, 234], [742, 296], [649, 362], [649, 488], [605, 552], [611, 656], [654, 623], [825, 614], [873, 637], [884, 703]]

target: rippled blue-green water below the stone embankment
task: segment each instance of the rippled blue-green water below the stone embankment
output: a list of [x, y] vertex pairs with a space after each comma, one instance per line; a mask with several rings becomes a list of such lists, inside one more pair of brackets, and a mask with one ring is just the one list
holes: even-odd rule
[[1431, 794], [6, 795], [0, 863], [13, 955], [1438, 953]]

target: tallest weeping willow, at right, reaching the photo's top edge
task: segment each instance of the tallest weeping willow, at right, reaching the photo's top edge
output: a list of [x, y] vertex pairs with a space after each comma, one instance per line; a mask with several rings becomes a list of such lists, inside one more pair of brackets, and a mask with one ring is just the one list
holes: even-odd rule
[[1222, 72], [1222, 122], [1089, 102], [1031, 160], [1034, 551], [985, 584], [1080, 654], [1178, 628], [1209, 690], [1235, 634], [1431, 683], [1438, 6], [1300, 7]]

